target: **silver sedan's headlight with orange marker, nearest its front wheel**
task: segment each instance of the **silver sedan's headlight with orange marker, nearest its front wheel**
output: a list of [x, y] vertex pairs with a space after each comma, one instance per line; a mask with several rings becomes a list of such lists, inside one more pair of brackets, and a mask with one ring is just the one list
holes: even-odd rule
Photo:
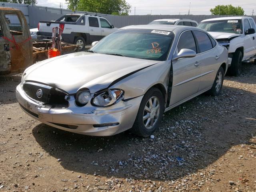
[[95, 106], [110, 106], [116, 103], [124, 94], [123, 90], [120, 89], [108, 89], [100, 94], [97, 94], [93, 100], [92, 104]]

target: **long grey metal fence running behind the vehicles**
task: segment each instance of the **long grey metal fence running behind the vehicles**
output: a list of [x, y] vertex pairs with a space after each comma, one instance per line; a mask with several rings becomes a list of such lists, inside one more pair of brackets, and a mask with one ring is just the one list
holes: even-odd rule
[[[43, 6], [31, 6], [25, 4], [16, 4], [16, 3], [6, 3], [0, 2], [0, 7], [11, 7], [21, 10], [26, 16], [27, 22], [30, 25], [30, 28], [37, 27], [39, 21], [50, 21], [60, 18], [62, 15], [71, 14], [71, 13], [88, 13], [95, 14], [90, 12], [73, 12], [72, 10], [59, 9], [52, 7], [43, 7]], [[149, 22], [156, 19], [164, 18], [188, 18], [200, 22], [204, 19], [217, 18], [217, 17], [226, 17], [226, 15], [128, 15], [128, 16], [116, 16], [116, 15], [107, 15], [107, 14], [98, 14], [109, 20], [111, 24], [114, 24], [115, 27], [120, 28], [128, 25], [138, 25], [138, 24], [148, 24]], [[256, 16], [252, 16], [256, 21]]]

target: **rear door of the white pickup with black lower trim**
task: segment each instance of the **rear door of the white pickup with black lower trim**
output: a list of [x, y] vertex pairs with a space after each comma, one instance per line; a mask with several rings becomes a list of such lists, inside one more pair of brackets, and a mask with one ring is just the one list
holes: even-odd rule
[[102, 39], [99, 19], [94, 16], [88, 16], [88, 22], [89, 22], [90, 43], [94, 41], [99, 41], [100, 39]]

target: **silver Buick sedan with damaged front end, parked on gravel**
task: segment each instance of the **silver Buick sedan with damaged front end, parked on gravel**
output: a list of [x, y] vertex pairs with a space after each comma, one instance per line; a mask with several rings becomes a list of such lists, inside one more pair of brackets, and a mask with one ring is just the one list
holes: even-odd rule
[[228, 68], [226, 48], [194, 27], [127, 26], [92, 45], [27, 68], [16, 88], [24, 112], [79, 134], [150, 136], [164, 112], [220, 94]]

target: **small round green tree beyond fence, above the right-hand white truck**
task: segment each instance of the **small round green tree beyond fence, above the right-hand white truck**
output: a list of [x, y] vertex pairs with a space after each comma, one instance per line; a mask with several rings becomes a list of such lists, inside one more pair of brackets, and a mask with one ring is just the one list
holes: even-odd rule
[[244, 9], [240, 6], [234, 7], [230, 5], [218, 5], [210, 9], [212, 15], [244, 15]]

